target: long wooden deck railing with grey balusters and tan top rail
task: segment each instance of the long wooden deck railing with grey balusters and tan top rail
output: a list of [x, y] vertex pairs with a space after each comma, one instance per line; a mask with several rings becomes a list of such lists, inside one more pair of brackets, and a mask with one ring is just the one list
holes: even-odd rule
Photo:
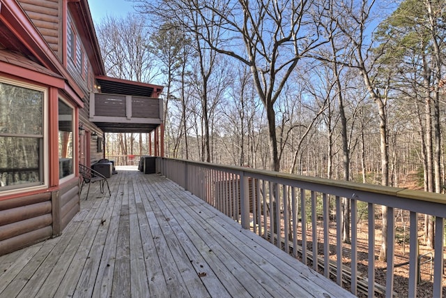
[[[339, 285], [345, 285], [351, 276], [348, 283], [355, 295], [361, 290], [369, 297], [377, 293], [392, 297], [395, 268], [408, 265], [406, 290], [408, 297], [416, 297], [423, 263], [418, 252], [419, 216], [434, 216], [431, 290], [433, 297], [442, 297], [446, 195], [169, 158], [157, 158], [157, 172], [238, 221], [243, 228], [292, 253], [313, 269], [323, 271]], [[344, 198], [351, 203], [351, 244], [341, 241]], [[375, 259], [380, 247], [375, 225], [376, 216], [380, 215], [379, 205], [387, 207], [385, 285], [375, 279]], [[406, 264], [394, 262], [397, 211], [407, 214], [408, 219]], [[364, 245], [361, 245], [364, 239], [358, 241], [358, 216], [367, 216], [368, 239]], [[367, 272], [358, 271], [358, 251], [362, 246], [367, 251], [367, 265], [362, 268], [367, 268], [364, 269]], [[351, 260], [348, 265], [343, 263], [343, 254]]]

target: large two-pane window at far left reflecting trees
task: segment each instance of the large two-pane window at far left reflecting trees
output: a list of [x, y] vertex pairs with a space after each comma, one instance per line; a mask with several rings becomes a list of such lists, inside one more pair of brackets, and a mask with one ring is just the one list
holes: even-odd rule
[[0, 80], [0, 193], [45, 184], [46, 89]]

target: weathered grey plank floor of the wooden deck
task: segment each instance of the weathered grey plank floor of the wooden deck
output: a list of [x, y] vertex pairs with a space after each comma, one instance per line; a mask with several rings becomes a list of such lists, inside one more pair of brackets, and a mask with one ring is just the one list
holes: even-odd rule
[[353, 297], [160, 175], [109, 183], [61, 237], [0, 257], [0, 297]]

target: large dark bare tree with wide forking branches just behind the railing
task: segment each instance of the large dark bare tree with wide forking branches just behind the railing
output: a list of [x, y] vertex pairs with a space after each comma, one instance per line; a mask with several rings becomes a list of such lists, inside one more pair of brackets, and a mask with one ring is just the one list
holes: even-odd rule
[[[257, 95], [266, 107], [270, 167], [279, 171], [274, 104], [298, 61], [321, 44], [317, 18], [310, 13], [318, 11], [315, 3], [171, 0], [157, 8], [164, 15], [182, 20], [185, 29], [204, 40], [210, 49], [250, 68]], [[215, 28], [220, 30], [220, 38], [211, 34]]]

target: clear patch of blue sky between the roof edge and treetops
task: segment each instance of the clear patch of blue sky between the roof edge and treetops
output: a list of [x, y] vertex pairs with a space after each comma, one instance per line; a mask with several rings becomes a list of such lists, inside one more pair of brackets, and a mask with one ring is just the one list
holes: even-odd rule
[[125, 17], [134, 12], [133, 2], [128, 0], [89, 0], [91, 17], [97, 24], [105, 16]]

